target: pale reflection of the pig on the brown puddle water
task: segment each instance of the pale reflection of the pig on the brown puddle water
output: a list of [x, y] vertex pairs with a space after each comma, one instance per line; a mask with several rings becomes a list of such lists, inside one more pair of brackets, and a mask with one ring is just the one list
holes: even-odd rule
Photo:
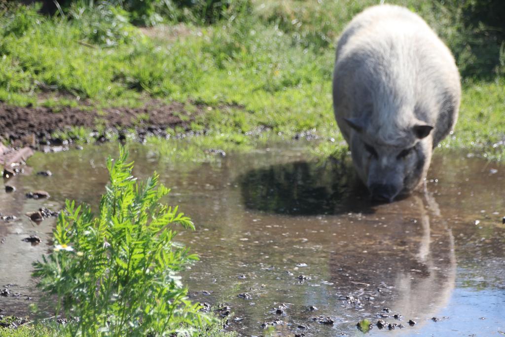
[[454, 239], [432, 196], [397, 204], [342, 230], [330, 262], [332, 281], [345, 306], [371, 314], [387, 307], [403, 316], [403, 325], [422, 323], [447, 305], [455, 286]]

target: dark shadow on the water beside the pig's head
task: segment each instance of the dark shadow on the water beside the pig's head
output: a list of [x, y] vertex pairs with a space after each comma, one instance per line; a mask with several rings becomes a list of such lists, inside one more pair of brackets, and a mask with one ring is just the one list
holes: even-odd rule
[[238, 178], [246, 208], [286, 215], [373, 213], [366, 187], [346, 161], [297, 161]]

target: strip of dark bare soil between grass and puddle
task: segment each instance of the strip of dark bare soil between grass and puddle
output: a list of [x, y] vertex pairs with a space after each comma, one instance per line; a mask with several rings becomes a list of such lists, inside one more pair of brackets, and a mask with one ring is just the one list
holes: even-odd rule
[[196, 111], [189, 113], [179, 102], [150, 101], [142, 108], [109, 108], [98, 112], [86, 107], [63, 107], [55, 111], [47, 107], [14, 107], [1, 103], [0, 139], [9, 140], [15, 146], [56, 142], [58, 139], [53, 139], [51, 134], [71, 126], [94, 131], [98, 126], [102, 129], [105, 126], [120, 134], [126, 129], [135, 129], [139, 134], [162, 135], [168, 127], [181, 126], [187, 130], [194, 117], [205, 110], [203, 105], [195, 107]]

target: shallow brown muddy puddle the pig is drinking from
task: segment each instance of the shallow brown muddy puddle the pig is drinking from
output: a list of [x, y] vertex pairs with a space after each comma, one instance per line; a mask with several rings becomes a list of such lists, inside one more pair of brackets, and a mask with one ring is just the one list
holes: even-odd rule
[[[50, 248], [55, 219], [37, 225], [25, 213], [58, 211], [66, 198], [96, 209], [110, 153], [115, 145], [36, 154], [6, 182], [16, 190], [0, 190], [0, 213], [18, 217], [0, 220], [2, 314], [25, 315], [39, 298], [31, 262]], [[505, 332], [505, 167], [439, 154], [427, 193], [378, 205], [347, 163], [300, 153], [272, 148], [171, 165], [148, 147], [131, 148], [134, 174], [157, 170], [172, 187], [167, 203], [196, 224], [178, 236], [200, 256], [183, 274], [192, 300], [225, 303], [229, 329], [247, 336], [269, 326], [278, 335], [355, 335], [362, 319], [384, 321], [371, 334]], [[36, 174], [43, 170], [52, 176]], [[39, 189], [51, 197], [25, 197]], [[42, 242], [22, 241], [30, 235]]]

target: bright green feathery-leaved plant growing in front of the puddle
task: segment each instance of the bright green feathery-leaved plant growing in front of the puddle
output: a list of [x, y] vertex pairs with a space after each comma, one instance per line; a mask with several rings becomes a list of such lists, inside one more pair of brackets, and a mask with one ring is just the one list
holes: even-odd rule
[[196, 335], [213, 318], [187, 300], [178, 272], [196, 260], [174, 242], [173, 225], [193, 229], [177, 207], [160, 203], [169, 189], [158, 174], [137, 183], [120, 149], [109, 157], [110, 184], [97, 216], [67, 201], [54, 230], [55, 249], [34, 276], [56, 295], [57, 314], [77, 318], [71, 335]]

